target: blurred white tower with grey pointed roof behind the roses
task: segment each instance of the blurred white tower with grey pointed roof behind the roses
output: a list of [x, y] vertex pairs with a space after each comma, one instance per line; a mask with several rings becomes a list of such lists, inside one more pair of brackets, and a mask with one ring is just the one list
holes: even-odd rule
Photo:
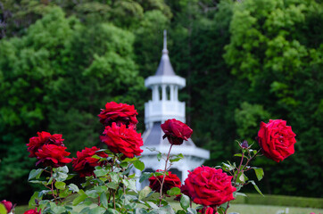
[[[177, 76], [170, 64], [169, 52], [167, 50], [166, 30], [163, 35], [162, 59], [154, 76], [145, 79], [145, 86], [153, 91], [153, 99], [145, 103], [145, 132], [144, 152], [141, 161], [145, 163], [145, 171], [154, 172], [157, 169], [165, 168], [165, 161], [157, 160], [157, 152], [151, 152], [148, 148], [155, 148], [157, 151], [166, 154], [170, 150], [170, 143], [164, 135], [161, 124], [167, 119], [178, 119], [185, 123], [185, 103], [178, 101], [178, 89], [186, 86], [185, 78]], [[194, 135], [194, 132], [193, 132]], [[184, 141], [181, 145], [174, 145], [171, 154], [184, 155], [184, 159], [174, 163], [170, 171], [177, 174], [182, 182], [188, 175], [188, 170], [199, 167], [203, 162], [210, 158], [210, 152], [196, 147], [191, 139]], [[141, 172], [135, 170], [137, 176]], [[137, 187], [143, 188], [148, 182]]]

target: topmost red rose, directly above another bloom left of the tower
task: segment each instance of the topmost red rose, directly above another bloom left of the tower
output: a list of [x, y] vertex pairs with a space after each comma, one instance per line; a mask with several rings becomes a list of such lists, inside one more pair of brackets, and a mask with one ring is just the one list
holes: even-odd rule
[[104, 124], [104, 127], [111, 127], [112, 122], [117, 123], [118, 126], [120, 124], [124, 124], [128, 126], [135, 126], [138, 123], [136, 118], [137, 110], [135, 110], [134, 105], [128, 105], [125, 103], [106, 103], [105, 109], [102, 109], [100, 114], [98, 115], [100, 118], [100, 122]]

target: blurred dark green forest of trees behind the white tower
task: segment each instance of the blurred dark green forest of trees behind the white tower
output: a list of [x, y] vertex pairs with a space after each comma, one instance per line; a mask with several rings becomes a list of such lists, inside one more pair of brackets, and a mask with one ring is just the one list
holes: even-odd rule
[[322, 197], [322, 23], [319, 0], [1, 0], [1, 198], [29, 200], [25, 144], [37, 131], [62, 134], [75, 157], [99, 144], [97, 114], [111, 101], [135, 104], [145, 130], [144, 79], [163, 29], [193, 140], [211, 151], [205, 164], [232, 160], [261, 121], [285, 119], [295, 153], [254, 163], [261, 190]]

